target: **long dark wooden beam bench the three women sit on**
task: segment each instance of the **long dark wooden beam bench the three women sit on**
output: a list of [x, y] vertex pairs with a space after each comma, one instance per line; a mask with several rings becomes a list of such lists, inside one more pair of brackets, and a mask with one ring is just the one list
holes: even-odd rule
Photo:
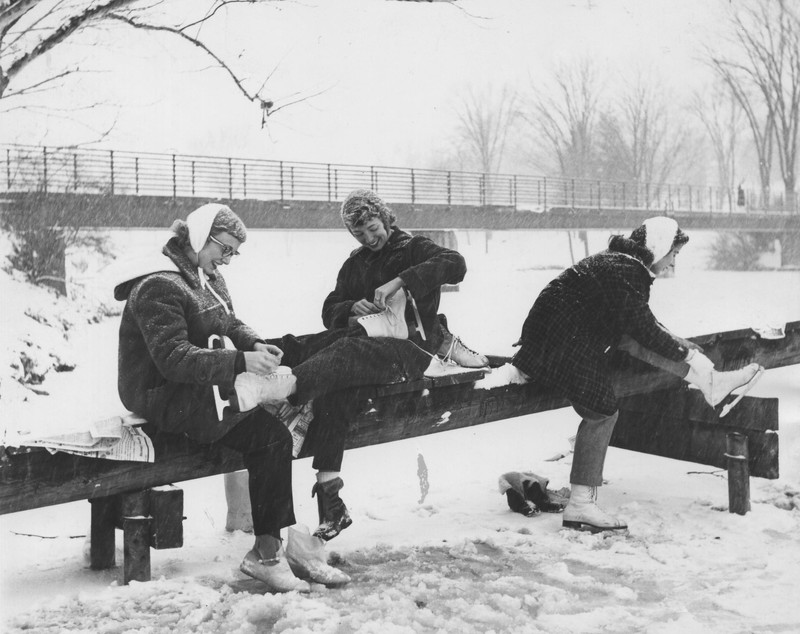
[[[718, 369], [757, 362], [765, 368], [800, 363], [800, 321], [769, 340], [736, 330], [693, 338]], [[507, 362], [491, 357], [491, 365]], [[778, 400], [745, 397], [725, 418], [679, 378], [622, 355], [615, 371], [620, 416], [612, 446], [718, 468], [737, 460], [747, 475], [778, 477]], [[347, 448], [376, 445], [567, 406], [535, 384], [476, 388], [482, 370], [407, 384], [360, 388], [362, 406]], [[746, 442], [748, 457], [729, 447]], [[737, 446], [738, 447], [738, 446]], [[75, 500], [92, 503], [93, 568], [114, 562], [114, 529], [125, 534], [124, 582], [149, 579], [149, 548], [183, 543], [182, 491], [176, 482], [243, 468], [241, 456], [219, 446], [159, 435], [154, 463], [112, 462], [26, 448], [0, 449], [0, 514]], [[733, 456], [733, 458], [731, 458]], [[305, 457], [301, 453], [300, 457]], [[741, 479], [741, 478], [740, 478]], [[746, 480], [746, 477], [745, 477]], [[155, 489], [154, 489], [155, 488]]]

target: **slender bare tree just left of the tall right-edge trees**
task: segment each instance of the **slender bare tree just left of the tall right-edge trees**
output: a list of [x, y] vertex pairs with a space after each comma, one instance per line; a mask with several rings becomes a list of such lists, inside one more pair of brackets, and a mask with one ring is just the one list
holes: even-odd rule
[[737, 178], [739, 138], [744, 126], [744, 111], [727, 84], [717, 84], [707, 93], [695, 93], [689, 106], [706, 131], [717, 165], [717, 182], [728, 197], [732, 211]]

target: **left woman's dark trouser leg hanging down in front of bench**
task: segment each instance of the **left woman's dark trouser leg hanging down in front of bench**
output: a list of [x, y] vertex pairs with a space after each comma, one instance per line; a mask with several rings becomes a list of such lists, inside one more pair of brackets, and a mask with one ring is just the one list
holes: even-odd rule
[[295, 523], [292, 499], [292, 435], [257, 407], [217, 443], [239, 451], [249, 475], [253, 532], [280, 538]]

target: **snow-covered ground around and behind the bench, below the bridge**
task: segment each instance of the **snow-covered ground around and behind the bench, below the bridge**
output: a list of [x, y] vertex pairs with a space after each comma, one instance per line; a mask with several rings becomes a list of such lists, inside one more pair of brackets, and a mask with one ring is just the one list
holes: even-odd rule
[[[483, 352], [508, 354], [541, 287], [570, 264], [565, 232], [456, 232], [469, 272], [442, 296], [451, 329]], [[607, 233], [590, 234], [590, 250]], [[140, 252], [163, 232], [113, 236]], [[712, 234], [696, 232], [674, 278], [651, 305], [684, 336], [800, 319], [800, 272], [705, 269]], [[226, 271], [239, 315], [262, 334], [321, 328], [320, 307], [355, 242], [344, 232], [253, 231]], [[582, 244], [574, 241], [575, 257]], [[321, 263], [325, 263], [323, 267]], [[96, 262], [72, 259], [76, 288], [108, 300]], [[71, 314], [49, 295], [0, 274], [2, 352], [30, 320]], [[88, 301], [86, 299], [82, 300]], [[74, 308], [69, 310], [75, 310]], [[77, 311], [80, 315], [80, 311]], [[79, 318], [72, 317], [73, 321]], [[119, 413], [118, 317], [71, 329], [75, 371], [48, 375], [49, 396], [17, 388], [3, 362], [3, 424], [30, 427]], [[60, 345], [54, 342], [53, 346]], [[152, 551], [154, 581], [121, 586], [121, 570], [84, 559], [89, 505], [0, 517], [0, 607], [5, 631], [27, 632], [798, 632], [800, 614], [800, 366], [770, 370], [755, 396], [780, 397], [781, 478], [753, 479], [752, 512], [727, 511], [724, 472], [611, 448], [602, 505], [626, 535], [562, 530], [560, 516], [511, 513], [498, 476], [532, 470], [568, 485], [571, 410], [350, 451], [343, 497], [354, 524], [329, 551], [353, 578], [343, 589], [264, 595], [238, 565], [252, 537], [225, 531], [222, 478], [182, 484], [185, 546]], [[23, 401], [23, 396], [26, 400]], [[418, 456], [428, 468], [422, 497]], [[313, 524], [310, 460], [296, 461], [298, 520]], [[121, 545], [121, 535], [118, 535]], [[118, 552], [117, 562], [121, 564]]]

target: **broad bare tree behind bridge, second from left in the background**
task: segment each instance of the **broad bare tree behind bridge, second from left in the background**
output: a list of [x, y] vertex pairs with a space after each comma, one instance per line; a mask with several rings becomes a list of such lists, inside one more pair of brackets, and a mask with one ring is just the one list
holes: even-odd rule
[[545, 147], [544, 162], [563, 178], [591, 178], [595, 171], [595, 126], [599, 117], [600, 77], [591, 60], [562, 64], [549, 82], [532, 86], [533, 99], [525, 119], [533, 127], [537, 145]]

